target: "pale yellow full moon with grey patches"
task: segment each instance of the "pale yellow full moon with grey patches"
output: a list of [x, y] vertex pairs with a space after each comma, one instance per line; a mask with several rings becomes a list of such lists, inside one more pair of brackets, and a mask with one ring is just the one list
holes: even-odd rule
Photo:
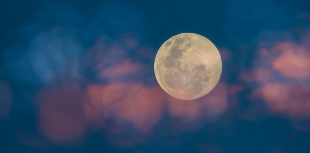
[[222, 59], [214, 44], [195, 33], [181, 33], [165, 41], [155, 56], [159, 86], [180, 100], [195, 100], [210, 93], [222, 73]]

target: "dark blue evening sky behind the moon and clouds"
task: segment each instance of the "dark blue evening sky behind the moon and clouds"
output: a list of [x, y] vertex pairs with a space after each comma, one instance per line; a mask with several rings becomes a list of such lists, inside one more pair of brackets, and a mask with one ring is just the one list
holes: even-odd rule
[[[308, 18], [299, 17], [302, 13], [308, 13]], [[166, 39], [178, 33], [198, 33], [218, 48], [228, 49], [230, 59], [223, 60], [221, 80], [228, 86], [238, 83], [245, 86], [241, 93], [229, 98], [239, 99], [238, 106], [234, 107], [234, 112], [238, 113], [249, 107], [251, 100], [247, 99], [247, 95], [257, 86], [240, 82], [238, 76], [256, 66], [253, 60], [257, 58], [255, 49], [258, 44], [277, 41], [298, 44], [301, 38], [298, 33], [286, 35], [283, 31], [296, 28], [306, 31], [310, 26], [309, 13], [309, 0], [2, 0], [0, 79], [10, 86], [12, 106], [10, 117], [0, 119], [0, 153], [310, 153], [310, 133], [296, 130], [286, 117], [269, 112], [264, 104], [258, 106], [261, 114], [257, 120], [230, 117], [227, 113], [223, 120], [229, 118], [232, 124], [219, 126], [217, 122], [220, 121], [204, 123], [198, 130], [183, 130], [178, 135], [171, 135], [174, 129], [167, 128], [171, 117], [163, 114], [154, 127], [155, 136], [148, 138], [147, 143], [133, 147], [110, 145], [104, 139], [104, 132], [103, 135], [89, 132], [83, 145], [61, 147], [51, 143], [48, 149], [24, 145], [16, 136], [20, 133], [31, 135], [38, 130], [36, 107], [32, 101], [42, 88], [54, 86], [63, 79], [77, 80], [82, 88], [89, 82], [108, 83], [108, 79], [96, 77], [93, 65], [82, 62], [88, 49], [102, 35], [106, 36], [109, 44], [122, 34], [135, 33], [139, 37], [139, 46], [154, 49], [148, 58], [126, 52], [126, 58], [150, 68], [142, 77], [120, 79], [125, 82], [142, 81], [147, 84], [148, 78], [154, 76], [152, 64], [157, 49]], [[61, 27], [56, 34], [56, 38], [61, 39], [53, 40], [51, 36], [51, 39], [42, 40], [38, 36], [41, 31], [54, 27]], [[47, 35], [50, 38], [50, 34]], [[66, 38], [73, 38], [78, 43], [70, 44]], [[33, 40], [42, 41], [43, 48], [45, 43], [54, 41], [51, 45], [54, 47], [58, 41], [60, 44], [65, 42], [65, 55], [61, 59], [52, 57], [58, 61], [52, 66], [42, 64], [33, 70], [28, 63], [40, 65], [45, 62], [45, 59], [35, 61], [37, 58], [32, 54], [24, 58], [27, 51], [36, 52], [41, 47], [31, 46]], [[70, 51], [72, 48], [77, 51]], [[75, 56], [81, 59], [82, 64], [77, 71], [83, 75], [82, 80], [71, 73], [45, 79], [47, 74], [64, 69], [66, 62]], [[89, 60], [92, 59], [88, 58], [86, 62]], [[117, 62], [111, 61], [110, 64]], [[309, 118], [301, 120], [310, 127]], [[135, 133], [131, 134], [135, 137]], [[177, 145], [169, 145], [173, 140], [178, 140]], [[217, 147], [203, 150], [200, 144], [216, 144]]]

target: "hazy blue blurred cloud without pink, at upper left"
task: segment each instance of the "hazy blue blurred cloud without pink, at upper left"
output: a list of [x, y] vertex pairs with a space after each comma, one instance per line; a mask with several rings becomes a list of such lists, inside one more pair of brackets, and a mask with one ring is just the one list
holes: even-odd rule
[[10, 48], [3, 54], [4, 67], [16, 81], [27, 85], [51, 85], [78, 79], [82, 47], [69, 30], [54, 27], [39, 32], [28, 45]]

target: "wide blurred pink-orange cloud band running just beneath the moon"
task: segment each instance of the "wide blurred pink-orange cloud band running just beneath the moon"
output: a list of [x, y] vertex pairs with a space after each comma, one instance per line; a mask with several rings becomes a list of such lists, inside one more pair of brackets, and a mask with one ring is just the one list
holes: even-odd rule
[[[86, 91], [84, 112], [88, 122], [95, 131], [107, 130], [104, 137], [117, 146], [145, 143], [154, 137], [153, 128], [165, 111], [172, 117], [169, 122], [173, 122], [173, 127], [167, 128], [198, 130], [224, 113], [229, 94], [223, 83], [196, 101], [181, 101], [168, 96], [159, 86], [142, 83], [93, 84]], [[124, 137], [133, 133], [137, 137]]]

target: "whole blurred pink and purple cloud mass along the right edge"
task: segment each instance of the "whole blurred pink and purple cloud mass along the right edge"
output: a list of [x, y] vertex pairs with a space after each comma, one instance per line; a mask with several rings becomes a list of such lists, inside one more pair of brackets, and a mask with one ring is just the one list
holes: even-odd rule
[[305, 41], [309, 29], [298, 37], [299, 42], [275, 39], [259, 43], [254, 67], [239, 79], [252, 85], [250, 101], [265, 102], [273, 115], [309, 131], [305, 130], [310, 118], [310, 48]]

